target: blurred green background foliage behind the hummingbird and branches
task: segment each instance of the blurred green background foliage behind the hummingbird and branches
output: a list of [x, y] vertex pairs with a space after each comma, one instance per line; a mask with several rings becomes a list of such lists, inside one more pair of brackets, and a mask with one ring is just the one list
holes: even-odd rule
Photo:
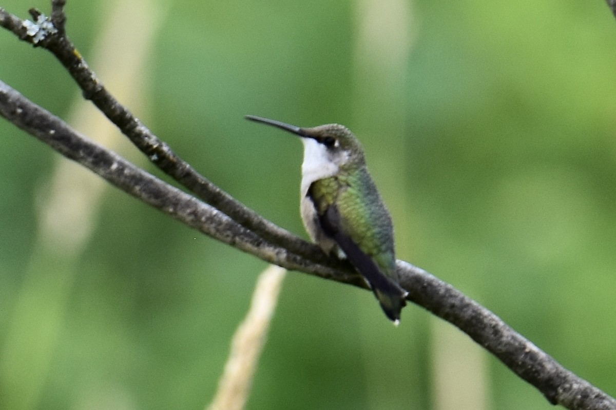
[[[118, 5], [132, 10], [114, 17]], [[0, 0], [22, 18], [33, 6], [49, 12]], [[67, 12], [112, 93], [293, 232], [304, 235], [301, 144], [243, 116], [350, 127], [399, 258], [616, 395], [616, 20], [604, 1], [91, 0]], [[108, 27], [124, 34], [101, 52]], [[2, 81], [73, 124], [98, 116], [75, 108], [50, 53], [4, 30], [0, 50]], [[137, 80], [112, 81], [133, 63]], [[265, 263], [105, 184], [89, 191], [97, 178], [4, 120], [0, 136], [0, 408], [204, 408]], [[103, 143], [160, 176], [115, 138]], [[423, 309], [395, 329], [370, 293], [291, 273], [247, 408], [552, 406]]]

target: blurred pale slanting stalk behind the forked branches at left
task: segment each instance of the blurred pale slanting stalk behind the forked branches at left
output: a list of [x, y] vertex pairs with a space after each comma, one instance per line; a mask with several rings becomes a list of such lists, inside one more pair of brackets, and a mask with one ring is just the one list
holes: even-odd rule
[[[137, 107], [146, 59], [161, 13], [147, 0], [110, 2], [92, 66], [119, 100]], [[135, 18], [139, 16], [139, 18]], [[93, 140], [116, 148], [123, 137], [81, 95], [69, 121]], [[13, 410], [38, 406], [57, 347], [77, 262], [96, 224], [108, 184], [78, 164], [58, 160], [38, 198], [38, 232], [23, 284], [0, 346], [2, 403]]]

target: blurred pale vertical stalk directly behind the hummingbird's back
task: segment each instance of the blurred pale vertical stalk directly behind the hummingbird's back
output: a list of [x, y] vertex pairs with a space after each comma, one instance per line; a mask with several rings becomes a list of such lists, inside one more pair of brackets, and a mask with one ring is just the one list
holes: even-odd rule
[[[413, 226], [408, 183], [402, 171], [409, 138], [405, 130], [407, 67], [415, 33], [411, 2], [358, 0], [355, 25], [353, 120], [347, 125], [352, 126], [366, 149], [368, 167], [394, 221], [397, 256], [403, 258], [411, 248], [409, 234]], [[360, 297], [362, 304], [370, 303], [364, 294]], [[408, 315], [412, 312], [412, 307], [402, 310], [397, 333], [410, 326]], [[400, 357], [404, 357], [406, 349], [397, 343], [387, 345], [387, 349], [374, 349], [371, 341], [375, 340], [375, 324], [365, 321], [365, 317], [360, 319], [368, 407], [381, 408], [384, 403], [403, 406], [402, 386], [392, 372], [400, 371]]]

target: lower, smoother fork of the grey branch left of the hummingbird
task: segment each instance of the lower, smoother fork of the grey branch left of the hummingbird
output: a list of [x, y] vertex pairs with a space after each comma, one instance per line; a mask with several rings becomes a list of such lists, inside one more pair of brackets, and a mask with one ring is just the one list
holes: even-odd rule
[[115, 152], [87, 140], [51, 112], [34, 104], [2, 81], [0, 116], [128, 194], [216, 240], [286, 269], [309, 271], [307, 273], [320, 277], [365, 286], [351, 269], [342, 271], [312, 264], [285, 248], [264, 241], [216, 208], [161, 181]]

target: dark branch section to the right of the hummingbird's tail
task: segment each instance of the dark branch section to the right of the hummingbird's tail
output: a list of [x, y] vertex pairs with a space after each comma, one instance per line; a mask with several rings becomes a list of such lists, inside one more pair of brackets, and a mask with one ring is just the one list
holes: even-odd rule
[[565, 369], [490, 310], [423, 269], [398, 261], [401, 285], [415, 302], [457, 326], [509, 369], [567, 409], [614, 410], [616, 400]]

